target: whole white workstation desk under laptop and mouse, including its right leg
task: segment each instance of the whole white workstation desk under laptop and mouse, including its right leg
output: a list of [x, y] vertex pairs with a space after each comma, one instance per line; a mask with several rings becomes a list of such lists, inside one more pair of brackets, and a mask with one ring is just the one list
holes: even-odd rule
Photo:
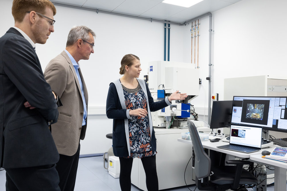
[[[185, 140], [185, 139], [179, 138], [179, 139], [177, 139], [177, 141], [192, 145], [191, 140]], [[226, 150], [226, 149], [217, 148], [217, 146], [228, 144], [227, 142], [224, 142], [224, 141], [218, 141], [218, 142], [214, 142], [214, 143], [212, 143], [210, 141], [202, 141], [201, 143], [202, 143], [202, 146], [204, 148], [211, 149], [214, 151], [219, 151], [222, 153], [226, 153], [227, 154], [226, 155], [227, 160], [232, 160], [235, 157], [250, 158], [250, 160], [255, 162], [255, 163], [263, 164], [265, 166], [274, 167], [275, 168], [274, 191], [286, 190], [287, 164], [283, 163], [283, 162], [274, 161], [274, 160], [264, 159], [264, 158], [262, 158], [262, 155], [261, 155], [261, 152], [263, 150], [271, 152], [274, 149], [275, 145], [272, 145], [272, 146], [267, 147], [267, 148], [263, 148], [261, 151], [257, 151], [257, 152], [253, 152], [253, 153], [241, 153], [241, 152], [237, 152], [237, 151], [230, 151], [230, 150]], [[230, 157], [230, 156], [233, 156], [233, 157]]]

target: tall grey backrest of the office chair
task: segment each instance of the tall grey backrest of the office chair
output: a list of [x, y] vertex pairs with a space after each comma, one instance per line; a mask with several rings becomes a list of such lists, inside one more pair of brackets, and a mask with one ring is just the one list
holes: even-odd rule
[[205, 178], [210, 175], [210, 166], [211, 166], [210, 157], [203, 150], [201, 140], [194, 123], [191, 120], [188, 120], [187, 126], [195, 154], [195, 164], [194, 164], [195, 176], [198, 179]]

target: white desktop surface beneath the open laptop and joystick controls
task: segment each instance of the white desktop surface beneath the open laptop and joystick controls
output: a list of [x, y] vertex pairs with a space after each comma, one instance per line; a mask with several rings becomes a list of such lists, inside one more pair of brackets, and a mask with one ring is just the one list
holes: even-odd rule
[[[192, 145], [191, 140], [185, 140], [185, 139], [182, 139], [182, 138], [178, 138], [177, 141], [180, 141], [180, 142]], [[250, 158], [251, 155], [256, 155], [256, 154], [260, 154], [261, 155], [261, 152], [263, 150], [271, 152], [274, 149], [274, 147], [275, 147], [274, 145], [272, 145], [270, 147], [266, 147], [266, 148], [261, 149], [261, 151], [256, 151], [256, 152], [253, 152], [253, 153], [242, 153], [242, 152], [238, 152], [238, 151], [230, 151], [230, 150], [226, 150], [226, 149], [217, 148], [218, 146], [228, 145], [229, 144], [228, 142], [224, 142], [222, 140], [220, 140], [218, 142], [210, 142], [208, 140], [208, 141], [201, 141], [201, 143], [202, 143], [203, 148], [211, 149], [211, 150], [214, 150], [214, 151], [219, 151], [219, 152], [226, 153], [228, 155], [233, 155], [233, 156], [236, 156], [236, 157], [239, 157], [239, 158]], [[267, 160], [267, 159], [263, 159], [263, 160]]]

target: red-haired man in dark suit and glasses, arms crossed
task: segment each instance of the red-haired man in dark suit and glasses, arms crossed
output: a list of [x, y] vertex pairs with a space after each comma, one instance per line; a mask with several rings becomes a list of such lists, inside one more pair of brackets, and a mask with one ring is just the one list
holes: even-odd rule
[[0, 159], [6, 190], [60, 190], [59, 153], [49, 130], [58, 119], [57, 95], [35, 52], [35, 43], [44, 44], [54, 32], [55, 14], [49, 0], [14, 0], [15, 27], [0, 38]]

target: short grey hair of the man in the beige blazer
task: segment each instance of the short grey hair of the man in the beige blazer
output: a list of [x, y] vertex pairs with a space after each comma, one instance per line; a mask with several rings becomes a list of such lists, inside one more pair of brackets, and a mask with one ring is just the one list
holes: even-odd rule
[[66, 47], [72, 46], [79, 39], [82, 39], [84, 41], [89, 41], [90, 39], [89, 33], [91, 33], [94, 38], [96, 37], [96, 34], [94, 33], [94, 31], [92, 31], [90, 28], [84, 25], [75, 26], [71, 28], [69, 35], [68, 35]]

